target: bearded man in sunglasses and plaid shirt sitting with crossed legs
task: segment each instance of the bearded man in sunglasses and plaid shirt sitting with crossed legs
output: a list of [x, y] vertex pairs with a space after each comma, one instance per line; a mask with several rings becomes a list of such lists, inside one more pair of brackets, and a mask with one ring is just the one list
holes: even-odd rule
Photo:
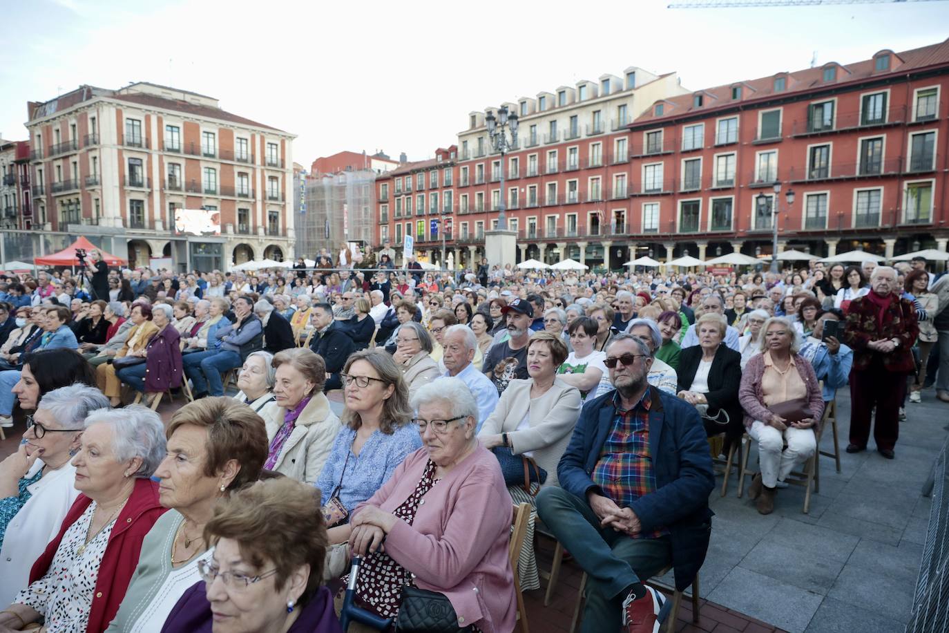
[[616, 387], [584, 406], [537, 512], [588, 574], [583, 630], [652, 633], [663, 598], [643, 581], [673, 565], [685, 589], [711, 534], [712, 458], [695, 407], [651, 386], [648, 346], [606, 348]]

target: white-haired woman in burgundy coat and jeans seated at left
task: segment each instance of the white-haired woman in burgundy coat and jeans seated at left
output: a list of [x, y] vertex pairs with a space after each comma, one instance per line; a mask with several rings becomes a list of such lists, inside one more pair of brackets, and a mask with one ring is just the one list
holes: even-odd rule
[[141, 393], [158, 394], [158, 398], [166, 390], [180, 387], [183, 376], [180, 335], [171, 320], [172, 309], [168, 304], [152, 308], [152, 323], [158, 333], [145, 345], [145, 362], [116, 370], [121, 382]]

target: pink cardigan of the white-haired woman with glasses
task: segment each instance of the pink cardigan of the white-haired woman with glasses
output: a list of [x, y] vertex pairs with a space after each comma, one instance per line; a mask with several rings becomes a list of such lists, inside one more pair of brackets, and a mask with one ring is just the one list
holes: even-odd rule
[[[415, 491], [427, 463], [424, 447], [405, 457], [353, 516], [368, 505], [394, 511]], [[512, 508], [497, 458], [478, 446], [422, 497], [411, 526], [396, 521], [385, 553], [415, 575], [420, 589], [448, 596], [459, 626], [508, 633], [517, 608], [508, 558]]]

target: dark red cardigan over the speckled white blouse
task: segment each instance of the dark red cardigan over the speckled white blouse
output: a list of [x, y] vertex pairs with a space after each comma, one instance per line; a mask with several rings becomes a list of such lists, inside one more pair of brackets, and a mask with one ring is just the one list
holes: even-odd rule
[[[56, 538], [50, 541], [46, 551], [36, 559], [33, 568], [29, 570], [30, 583], [46, 575], [65, 531], [83, 515], [91, 503], [92, 499], [80, 494], [72, 504]], [[99, 577], [96, 579], [86, 633], [102, 633], [112, 622], [132, 580], [132, 573], [139, 566], [141, 542], [165, 510], [158, 503], [158, 484], [151, 479], [136, 480], [135, 490], [128, 497], [112, 533], [109, 534], [109, 543], [99, 565]]]

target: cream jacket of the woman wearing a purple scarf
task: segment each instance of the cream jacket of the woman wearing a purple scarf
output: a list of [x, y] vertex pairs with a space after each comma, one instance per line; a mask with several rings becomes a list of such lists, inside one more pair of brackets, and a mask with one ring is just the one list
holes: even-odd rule
[[[267, 441], [273, 441], [284, 424], [287, 409], [264, 407], [260, 416], [267, 424]], [[315, 394], [296, 420], [290, 437], [280, 448], [273, 470], [297, 481], [315, 484], [329, 456], [329, 449], [340, 432], [340, 419], [329, 409], [323, 392]]]

